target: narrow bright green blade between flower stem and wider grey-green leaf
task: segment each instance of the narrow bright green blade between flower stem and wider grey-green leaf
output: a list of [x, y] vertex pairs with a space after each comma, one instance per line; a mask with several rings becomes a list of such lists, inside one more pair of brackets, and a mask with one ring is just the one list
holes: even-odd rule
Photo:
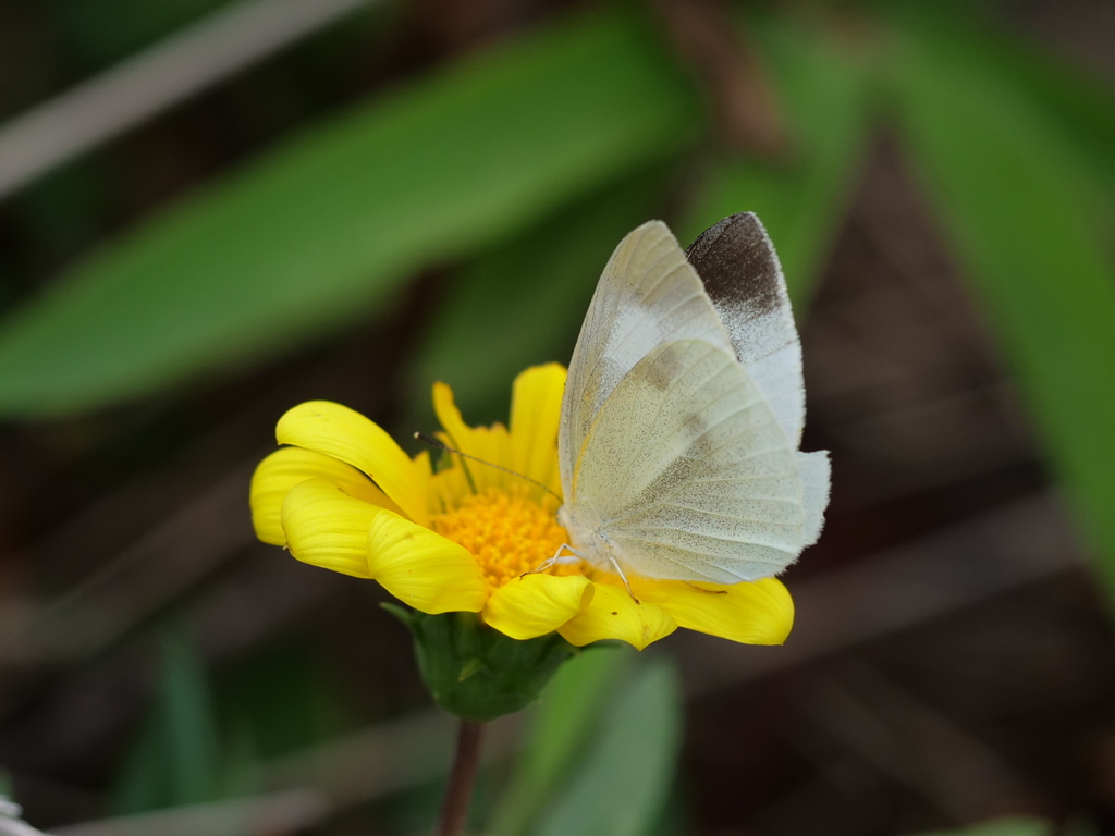
[[520, 836], [564, 777], [591, 732], [631, 654], [619, 649], [589, 650], [562, 665], [531, 715], [523, 752], [485, 833]]

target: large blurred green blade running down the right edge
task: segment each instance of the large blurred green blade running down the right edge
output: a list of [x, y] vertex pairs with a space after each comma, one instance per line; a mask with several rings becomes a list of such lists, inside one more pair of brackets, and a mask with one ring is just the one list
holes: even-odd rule
[[1094, 173], [1018, 88], [908, 28], [906, 143], [1115, 592], [1115, 265]]

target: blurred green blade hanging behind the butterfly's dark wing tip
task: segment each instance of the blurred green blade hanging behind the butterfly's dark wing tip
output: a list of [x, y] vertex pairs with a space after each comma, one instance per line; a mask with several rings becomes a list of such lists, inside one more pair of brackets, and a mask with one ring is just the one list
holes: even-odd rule
[[682, 242], [736, 212], [756, 212], [795, 299], [809, 293], [850, 200], [871, 117], [872, 50], [791, 18], [748, 25], [786, 119], [791, 159], [718, 159], [682, 226]]

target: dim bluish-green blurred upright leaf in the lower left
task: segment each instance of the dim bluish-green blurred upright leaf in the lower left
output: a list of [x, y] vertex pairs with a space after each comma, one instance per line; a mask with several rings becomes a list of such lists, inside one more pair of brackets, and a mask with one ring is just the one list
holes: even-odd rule
[[161, 640], [155, 707], [115, 791], [118, 813], [144, 813], [221, 797], [222, 762], [209, 679], [182, 629]]

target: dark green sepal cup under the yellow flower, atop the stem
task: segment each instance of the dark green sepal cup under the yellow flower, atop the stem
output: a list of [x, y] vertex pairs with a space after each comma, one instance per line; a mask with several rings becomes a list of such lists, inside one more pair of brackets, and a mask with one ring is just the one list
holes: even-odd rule
[[476, 613], [427, 615], [380, 604], [407, 625], [434, 701], [463, 720], [486, 722], [539, 699], [558, 668], [579, 651], [558, 633], [518, 641]]

